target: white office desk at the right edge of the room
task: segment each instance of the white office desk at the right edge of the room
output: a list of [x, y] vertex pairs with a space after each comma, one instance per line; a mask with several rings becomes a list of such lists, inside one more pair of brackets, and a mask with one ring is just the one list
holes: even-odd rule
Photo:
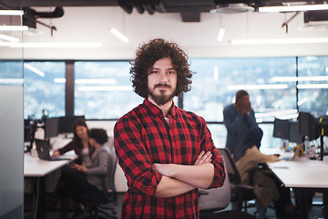
[[280, 161], [267, 163], [272, 172], [285, 187], [292, 187], [300, 192], [302, 216], [309, 218], [306, 191], [314, 189], [323, 192], [324, 218], [328, 218], [328, 159], [311, 161], [299, 159], [297, 161]]

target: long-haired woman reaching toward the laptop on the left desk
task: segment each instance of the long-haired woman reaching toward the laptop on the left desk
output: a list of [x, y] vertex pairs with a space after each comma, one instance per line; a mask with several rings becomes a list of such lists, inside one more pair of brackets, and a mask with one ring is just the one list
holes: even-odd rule
[[89, 156], [92, 156], [92, 153], [95, 151], [94, 148], [90, 147], [89, 138], [87, 136], [87, 123], [86, 120], [77, 119], [74, 121], [73, 124], [73, 140], [67, 143], [64, 147], [56, 150], [53, 152], [53, 157], [57, 157], [66, 153], [67, 151], [74, 150], [78, 156], [77, 163], [81, 164], [82, 158], [81, 154], [82, 151], [87, 151]]

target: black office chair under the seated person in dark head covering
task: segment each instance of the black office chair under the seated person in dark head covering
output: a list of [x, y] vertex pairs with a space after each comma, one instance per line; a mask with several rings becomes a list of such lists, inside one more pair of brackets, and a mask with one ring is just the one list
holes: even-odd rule
[[[224, 159], [228, 172], [227, 175], [231, 183], [232, 209], [238, 211], [244, 209], [244, 212], [247, 212], [247, 208], [255, 207], [254, 203], [248, 203], [249, 201], [254, 200], [256, 198], [255, 194], [253, 193], [254, 187], [251, 185], [241, 184], [241, 175], [232, 160], [231, 152], [229, 151], [229, 149], [219, 148], [218, 151]], [[251, 175], [254, 171], [255, 169], [250, 171]], [[250, 178], [252, 179], [251, 176]]]

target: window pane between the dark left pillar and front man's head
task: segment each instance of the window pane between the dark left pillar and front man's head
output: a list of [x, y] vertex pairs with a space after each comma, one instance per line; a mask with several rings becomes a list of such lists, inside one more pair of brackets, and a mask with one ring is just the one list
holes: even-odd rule
[[75, 114], [118, 119], [143, 99], [132, 88], [128, 61], [75, 63]]

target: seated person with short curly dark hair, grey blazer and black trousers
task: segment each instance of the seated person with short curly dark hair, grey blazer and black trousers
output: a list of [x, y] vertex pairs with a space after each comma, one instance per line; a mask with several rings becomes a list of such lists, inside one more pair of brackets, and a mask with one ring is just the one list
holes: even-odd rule
[[105, 193], [100, 177], [110, 177], [110, 155], [103, 145], [108, 141], [106, 130], [92, 129], [88, 131], [91, 147], [95, 149], [90, 160], [82, 165], [73, 163], [62, 171], [61, 181], [64, 185], [59, 189], [62, 199], [61, 218], [68, 218], [69, 200], [72, 197], [79, 203], [84, 203], [81, 197], [92, 200], [105, 200]]

